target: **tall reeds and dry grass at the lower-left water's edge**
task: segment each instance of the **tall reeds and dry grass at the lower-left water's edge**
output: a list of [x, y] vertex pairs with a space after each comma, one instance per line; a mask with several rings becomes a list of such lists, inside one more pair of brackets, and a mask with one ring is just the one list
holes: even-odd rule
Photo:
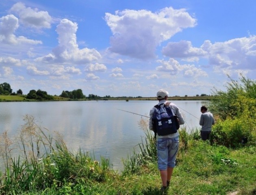
[[102, 182], [111, 176], [108, 159], [100, 163], [81, 150], [73, 154], [60, 135], [53, 138], [33, 116], [26, 115], [24, 121], [17, 137], [9, 139], [7, 132], [1, 137], [5, 168], [0, 171], [0, 194], [60, 188], [81, 180]]

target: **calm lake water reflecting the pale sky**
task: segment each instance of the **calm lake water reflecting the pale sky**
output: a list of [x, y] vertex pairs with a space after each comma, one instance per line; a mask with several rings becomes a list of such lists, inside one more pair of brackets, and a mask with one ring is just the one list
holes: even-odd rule
[[[199, 126], [202, 101], [172, 101], [180, 107], [187, 130]], [[97, 160], [109, 158], [113, 169], [122, 168], [122, 158], [132, 154], [144, 132], [141, 116], [149, 115], [157, 101], [70, 101], [70, 102], [0, 102], [0, 135], [14, 136], [24, 124], [24, 115], [32, 115], [37, 124], [50, 132], [63, 134], [73, 150], [92, 152]], [[191, 113], [191, 114], [189, 114]], [[148, 119], [144, 117], [145, 119]]]

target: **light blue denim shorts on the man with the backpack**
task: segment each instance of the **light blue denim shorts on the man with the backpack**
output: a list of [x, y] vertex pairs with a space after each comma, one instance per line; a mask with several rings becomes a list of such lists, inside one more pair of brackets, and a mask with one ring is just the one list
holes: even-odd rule
[[175, 167], [176, 154], [179, 148], [179, 137], [157, 139], [158, 169], [166, 170]]

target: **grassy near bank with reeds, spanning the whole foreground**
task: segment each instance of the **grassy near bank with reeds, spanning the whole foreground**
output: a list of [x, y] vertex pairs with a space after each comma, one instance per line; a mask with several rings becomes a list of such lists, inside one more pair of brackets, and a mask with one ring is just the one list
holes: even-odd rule
[[[143, 120], [143, 119], [142, 119]], [[6, 171], [0, 173], [0, 194], [29, 195], [158, 195], [161, 179], [157, 170], [154, 136], [145, 127], [145, 139], [124, 162], [121, 172], [110, 169], [109, 160], [95, 161], [79, 150], [68, 150], [62, 137], [48, 130], [29, 115], [16, 139], [5, 132], [0, 152]], [[256, 191], [256, 147], [231, 149], [211, 145], [193, 134], [180, 132], [180, 150], [167, 194], [253, 195]], [[14, 141], [15, 140], [15, 141]], [[19, 157], [13, 156], [19, 145]]]

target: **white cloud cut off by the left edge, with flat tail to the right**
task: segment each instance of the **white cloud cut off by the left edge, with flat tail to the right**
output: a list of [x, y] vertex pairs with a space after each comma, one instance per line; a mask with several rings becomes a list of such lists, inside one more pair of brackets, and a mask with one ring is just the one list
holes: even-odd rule
[[42, 44], [42, 41], [28, 39], [24, 36], [16, 37], [14, 34], [19, 27], [19, 20], [14, 15], [6, 15], [0, 18], [0, 43], [7, 44]]

